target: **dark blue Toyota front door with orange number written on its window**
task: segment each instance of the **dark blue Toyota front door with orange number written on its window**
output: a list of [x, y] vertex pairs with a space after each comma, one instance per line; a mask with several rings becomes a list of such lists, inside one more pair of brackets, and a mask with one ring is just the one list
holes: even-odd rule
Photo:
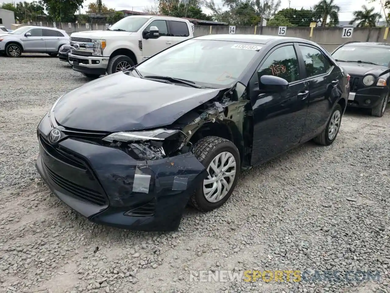
[[272, 49], [257, 71], [289, 82], [282, 93], [259, 89], [257, 72], [250, 80], [254, 133], [251, 164], [267, 161], [297, 145], [302, 137], [307, 113], [307, 85], [301, 79], [293, 43]]

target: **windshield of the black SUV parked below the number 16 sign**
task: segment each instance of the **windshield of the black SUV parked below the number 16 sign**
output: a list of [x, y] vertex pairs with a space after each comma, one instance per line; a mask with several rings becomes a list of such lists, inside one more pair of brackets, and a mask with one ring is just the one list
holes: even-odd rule
[[390, 63], [390, 46], [389, 48], [377, 46], [342, 46], [332, 54], [332, 57], [339, 61], [362, 61], [387, 67]]

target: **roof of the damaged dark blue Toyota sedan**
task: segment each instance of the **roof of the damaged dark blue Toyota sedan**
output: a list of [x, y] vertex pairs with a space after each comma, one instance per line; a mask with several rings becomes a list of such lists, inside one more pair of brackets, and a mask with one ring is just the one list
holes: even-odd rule
[[303, 42], [307, 44], [313, 44], [318, 46], [312, 41], [301, 38], [289, 38], [284, 36], [268, 36], [268, 35], [246, 35], [246, 34], [211, 34], [205, 36], [195, 37], [194, 39], [202, 40], [213, 40], [213, 41], [233, 41], [233, 42], [243, 42], [243, 43], [257, 43], [257, 44], [267, 44], [274, 41], [285, 40], [286, 42]]

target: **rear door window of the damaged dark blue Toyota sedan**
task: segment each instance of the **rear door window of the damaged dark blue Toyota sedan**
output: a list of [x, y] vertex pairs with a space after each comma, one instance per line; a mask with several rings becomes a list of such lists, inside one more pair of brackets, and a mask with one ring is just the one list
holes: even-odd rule
[[320, 50], [309, 46], [299, 45], [299, 47], [305, 62], [307, 77], [326, 73], [332, 67]]

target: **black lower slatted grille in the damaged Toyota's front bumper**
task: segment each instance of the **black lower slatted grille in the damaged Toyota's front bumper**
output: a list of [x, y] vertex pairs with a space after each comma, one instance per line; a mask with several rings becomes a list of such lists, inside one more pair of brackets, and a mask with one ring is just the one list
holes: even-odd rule
[[80, 185], [74, 184], [73, 182], [70, 182], [69, 180], [66, 180], [65, 178], [61, 177], [60, 175], [57, 175], [53, 171], [51, 171], [46, 165], [45, 165], [46, 171], [50, 177], [50, 179], [60, 188], [66, 190], [67, 192], [71, 193], [72, 195], [80, 198], [81, 200], [85, 202], [89, 202], [91, 204], [96, 204], [99, 206], [103, 206], [107, 204], [106, 198], [101, 193], [98, 193], [95, 190], [88, 189], [85, 187], [82, 187]]

